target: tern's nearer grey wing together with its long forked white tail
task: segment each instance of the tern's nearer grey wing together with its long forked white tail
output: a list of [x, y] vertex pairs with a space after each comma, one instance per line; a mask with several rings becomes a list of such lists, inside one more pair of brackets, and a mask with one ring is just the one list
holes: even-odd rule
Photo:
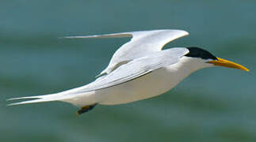
[[11, 103], [9, 106], [26, 104], [26, 103], [41, 103], [50, 101], [63, 101], [67, 103], [73, 103], [79, 105], [76, 101], [85, 92], [96, 91], [98, 89], [109, 88], [124, 82], [136, 79], [137, 77], [142, 77], [147, 73], [151, 73], [156, 69], [165, 67], [166, 65], [172, 65], [179, 61], [179, 59], [188, 54], [189, 50], [187, 48], [171, 48], [168, 50], [162, 50], [149, 54], [147, 57], [137, 58], [132, 62], [120, 65], [119, 68], [115, 69], [113, 72], [105, 75], [104, 77], [99, 77], [97, 80], [91, 84], [87, 84], [80, 88], [74, 88], [64, 92], [59, 92], [50, 95], [37, 95], [29, 97], [14, 98], [15, 99], [34, 99], [26, 100], [19, 103]]

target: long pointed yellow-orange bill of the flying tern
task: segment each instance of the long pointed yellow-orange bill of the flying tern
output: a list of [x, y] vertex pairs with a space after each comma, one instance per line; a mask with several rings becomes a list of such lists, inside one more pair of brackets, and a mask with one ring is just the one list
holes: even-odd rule
[[225, 60], [223, 58], [217, 58], [217, 60], [209, 61], [208, 63], [211, 63], [213, 65], [218, 65], [218, 66], [224, 66], [224, 67], [227, 67], [227, 68], [241, 69], [241, 70], [244, 70], [246, 72], [250, 71], [249, 69], [247, 69], [243, 65], [239, 65], [235, 62], [231, 62], [231, 61]]

